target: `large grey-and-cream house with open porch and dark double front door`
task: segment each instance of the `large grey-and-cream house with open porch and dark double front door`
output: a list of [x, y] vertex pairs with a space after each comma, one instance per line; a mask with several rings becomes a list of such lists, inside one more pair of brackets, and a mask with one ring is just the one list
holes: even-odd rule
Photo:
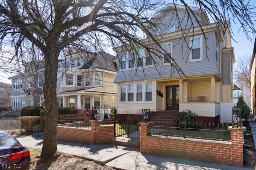
[[[200, 121], [218, 122], [220, 103], [232, 103], [235, 58], [228, 33], [230, 30], [219, 34], [216, 30], [218, 24], [210, 24], [206, 14], [194, 8], [194, 17], [202, 22], [203, 35], [196, 22], [187, 21], [189, 17], [185, 7], [176, 5], [176, 8], [177, 12], [174, 12], [174, 5], [168, 4], [165, 13], [156, 17], [167, 24], [158, 33], [162, 36], [162, 47], [169, 52], [187, 78], [180, 77], [174, 71], [167, 60], [168, 55], [162, 56], [162, 59], [152, 59], [141, 48], [137, 52], [139, 57], [133, 61], [129, 53], [120, 47], [116, 51], [119, 67], [115, 79], [118, 85], [117, 113], [120, 117], [140, 119], [141, 109], [150, 109], [152, 114], [164, 110], [182, 112], [188, 109], [195, 112]], [[182, 21], [178, 22], [178, 18], [182, 18]], [[180, 38], [192, 24], [194, 35], [186, 37], [190, 51], [187, 43]], [[138, 60], [141, 62], [136, 62]]]

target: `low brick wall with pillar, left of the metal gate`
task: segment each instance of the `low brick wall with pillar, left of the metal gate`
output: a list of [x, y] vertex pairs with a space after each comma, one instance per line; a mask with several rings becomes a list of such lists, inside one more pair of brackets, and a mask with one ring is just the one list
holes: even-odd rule
[[101, 121], [90, 121], [91, 130], [58, 127], [57, 138], [68, 142], [78, 142], [85, 144], [104, 144], [114, 138], [114, 126], [100, 126]]

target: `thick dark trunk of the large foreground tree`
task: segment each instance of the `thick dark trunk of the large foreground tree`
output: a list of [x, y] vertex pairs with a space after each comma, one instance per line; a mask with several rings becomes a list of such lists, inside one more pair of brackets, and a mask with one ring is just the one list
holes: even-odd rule
[[57, 126], [58, 126], [58, 100], [57, 72], [58, 50], [52, 49], [50, 53], [44, 53], [44, 112], [45, 128], [44, 143], [40, 159], [47, 160], [57, 151]]

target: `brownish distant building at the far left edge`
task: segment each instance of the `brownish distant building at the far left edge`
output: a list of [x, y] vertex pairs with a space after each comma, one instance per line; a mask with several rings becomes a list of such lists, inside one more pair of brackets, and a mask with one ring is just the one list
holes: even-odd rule
[[10, 93], [12, 85], [0, 82], [0, 111], [10, 109]]

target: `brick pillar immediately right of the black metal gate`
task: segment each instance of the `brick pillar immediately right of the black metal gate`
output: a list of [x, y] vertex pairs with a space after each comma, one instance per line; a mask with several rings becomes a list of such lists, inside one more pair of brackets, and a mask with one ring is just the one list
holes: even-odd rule
[[140, 125], [140, 152], [148, 153], [146, 136], [151, 132], [151, 123], [138, 123]]

